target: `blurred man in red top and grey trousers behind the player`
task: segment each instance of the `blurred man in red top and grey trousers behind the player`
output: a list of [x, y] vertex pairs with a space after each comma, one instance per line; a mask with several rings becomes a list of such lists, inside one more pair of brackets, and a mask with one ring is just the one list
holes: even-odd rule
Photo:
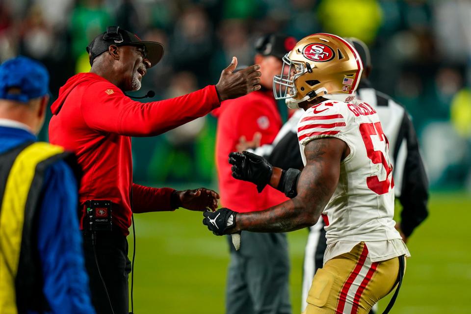
[[[216, 166], [221, 203], [238, 212], [260, 210], [287, 200], [268, 186], [260, 193], [253, 184], [232, 177], [228, 156], [237, 150], [239, 139], [258, 137], [271, 143], [282, 126], [273, 97], [273, 77], [281, 72], [282, 58], [296, 40], [278, 34], [256, 42], [255, 63], [261, 65], [262, 89], [224, 102], [213, 112], [218, 117]], [[230, 241], [229, 241], [230, 242]], [[289, 257], [285, 234], [243, 232], [240, 250], [231, 247], [226, 290], [226, 314], [290, 314]]]

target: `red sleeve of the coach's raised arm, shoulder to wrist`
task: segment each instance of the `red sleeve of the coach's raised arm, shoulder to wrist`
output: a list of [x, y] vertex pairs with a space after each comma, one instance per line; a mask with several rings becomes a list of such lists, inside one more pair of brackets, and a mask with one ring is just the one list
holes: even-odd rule
[[115, 85], [100, 81], [84, 91], [80, 110], [91, 129], [127, 136], [153, 136], [202, 117], [219, 105], [214, 85], [172, 99], [139, 103]]

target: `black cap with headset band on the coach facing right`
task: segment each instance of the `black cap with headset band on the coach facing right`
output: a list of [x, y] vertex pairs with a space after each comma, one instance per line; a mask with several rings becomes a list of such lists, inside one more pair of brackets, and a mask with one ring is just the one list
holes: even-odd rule
[[91, 41], [87, 46], [90, 65], [93, 60], [107, 51], [109, 46], [142, 46], [147, 59], [151, 62], [151, 67], [155, 66], [163, 56], [163, 46], [154, 41], [142, 41], [136, 34], [119, 26], [108, 26], [104, 33], [101, 33]]

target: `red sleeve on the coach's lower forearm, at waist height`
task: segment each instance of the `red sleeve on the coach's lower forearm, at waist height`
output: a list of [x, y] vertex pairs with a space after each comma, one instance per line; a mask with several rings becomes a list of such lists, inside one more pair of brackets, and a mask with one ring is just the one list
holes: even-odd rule
[[132, 211], [135, 213], [175, 210], [170, 206], [170, 196], [175, 191], [169, 187], [149, 187], [132, 183]]

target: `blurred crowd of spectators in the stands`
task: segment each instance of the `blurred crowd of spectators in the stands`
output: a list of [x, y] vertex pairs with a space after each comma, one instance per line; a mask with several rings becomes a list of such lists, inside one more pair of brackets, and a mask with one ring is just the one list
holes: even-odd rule
[[[134, 95], [165, 99], [215, 84], [233, 55], [252, 64], [263, 33], [357, 37], [371, 50], [373, 87], [413, 118], [431, 187], [471, 190], [470, 21], [468, 0], [1, 0], [0, 61], [43, 62], [54, 100], [68, 78], [89, 71], [91, 39], [118, 25], [164, 45]], [[208, 116], [133, 139], [134, 181], [212, 183], [216, 123]]]

